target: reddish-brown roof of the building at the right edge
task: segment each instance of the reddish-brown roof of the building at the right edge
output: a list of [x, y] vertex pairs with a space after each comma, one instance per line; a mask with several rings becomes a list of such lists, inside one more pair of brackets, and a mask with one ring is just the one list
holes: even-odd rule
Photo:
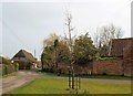
[[130, 50], [133, 44], [133, 38], [113, 39], [111, 46], [112, 56], [123, 56], [124, 51]]

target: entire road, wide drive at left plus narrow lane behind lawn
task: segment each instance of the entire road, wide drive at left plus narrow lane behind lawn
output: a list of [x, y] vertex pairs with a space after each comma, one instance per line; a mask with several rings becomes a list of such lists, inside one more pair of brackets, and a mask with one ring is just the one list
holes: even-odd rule
[[[61, 76], [54, 76], [49, 74], [40, 74], [33, 71], [19, 71], [17, 74], [0, 78], [0, 86], [2, 86], [2, 89], [0, 89], [3, 94], [8, 93], [14, 88], [21, 87], [30, 83], [31, 81], [38, 78], [38, 77], [53, 77], [53, 78], [66, 78]], [[108, 83], [124, 83], [124, 84], [131, 84], [131, 81], [123, 81], [123, 79], [98, 79], [98, 78], [81, 78], [82, 81], [93, 81], [93, 82], [108, 82]]]

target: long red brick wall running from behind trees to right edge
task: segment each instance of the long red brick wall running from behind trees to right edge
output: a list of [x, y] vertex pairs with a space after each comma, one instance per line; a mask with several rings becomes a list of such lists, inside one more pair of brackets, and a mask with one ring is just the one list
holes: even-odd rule
[[[106, 74], [106, 75], [133, 75], [133, 52], [126, 53], [123, 60], [110, 60], [110, 61], [93, 61], [91, 64], [74, 65], [74, 72], [80, 74]], [[59, 64], [59, 68], [63, 73], [68, 73], [66, 64]]]

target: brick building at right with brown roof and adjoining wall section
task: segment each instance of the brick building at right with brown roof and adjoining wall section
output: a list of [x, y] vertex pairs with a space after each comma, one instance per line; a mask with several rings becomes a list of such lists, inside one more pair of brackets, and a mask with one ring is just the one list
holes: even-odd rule
[[111, 42], [112, 61], [94, 61], [93, 74], [133, 76], [133, 38], [114, 39]]

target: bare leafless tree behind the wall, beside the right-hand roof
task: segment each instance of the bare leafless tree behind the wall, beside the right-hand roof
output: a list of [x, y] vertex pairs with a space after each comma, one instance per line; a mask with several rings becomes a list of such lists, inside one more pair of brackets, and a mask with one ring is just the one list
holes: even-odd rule
[[122, 29], [114, 24], [109, 24], [96, 29], [95, 46], [99, 49], [100, 55], [110, 55], [111, 40], [122, 38]]

